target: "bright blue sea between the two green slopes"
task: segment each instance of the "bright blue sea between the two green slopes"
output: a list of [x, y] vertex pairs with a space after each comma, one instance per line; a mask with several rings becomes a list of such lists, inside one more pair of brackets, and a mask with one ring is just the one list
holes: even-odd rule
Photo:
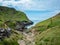
[[33, 26], [41, 21], [55, 16], [58, 12], [56, 11], [24, 11], [27, 17], [34, 22]]

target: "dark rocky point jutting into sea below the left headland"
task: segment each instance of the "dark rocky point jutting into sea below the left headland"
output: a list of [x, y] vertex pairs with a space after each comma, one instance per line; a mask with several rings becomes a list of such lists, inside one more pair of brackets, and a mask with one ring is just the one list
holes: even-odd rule
[[33, 24], [33, 22], [32, 21], [30, 21], [30, 22], [28, 22], [28, 21], [17, 21], [16, 22], [16, 30], [19, 30], [19, 31], [24, 31], [25, 29], [27, 29], [27, 26], [29, 26], [29, 25], [32, 25]]

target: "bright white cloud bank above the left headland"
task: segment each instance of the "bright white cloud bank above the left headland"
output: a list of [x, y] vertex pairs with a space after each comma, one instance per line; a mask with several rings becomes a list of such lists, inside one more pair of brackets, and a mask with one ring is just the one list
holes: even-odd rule
[[30, 9], [31, 5], [32, 5], [32, 1], [31, 0], [9, 0], [9, 1], [3, 1], [1, 0], [0, 3], [2, 2], [2, 6], [9, 6], [9, 7], [14, 7], [14, 8], [20, 8], [20, 9]]

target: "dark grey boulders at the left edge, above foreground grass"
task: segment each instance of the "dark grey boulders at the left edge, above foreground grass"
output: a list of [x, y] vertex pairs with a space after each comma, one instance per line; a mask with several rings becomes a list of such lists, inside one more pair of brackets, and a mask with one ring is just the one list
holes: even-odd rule
[[0, 28], [0, 40], [3, 40], [3, 38], [5, 37], [9, 38], [10, 34], [11, 34], [10, 28], [7, 28], [7, 29]]

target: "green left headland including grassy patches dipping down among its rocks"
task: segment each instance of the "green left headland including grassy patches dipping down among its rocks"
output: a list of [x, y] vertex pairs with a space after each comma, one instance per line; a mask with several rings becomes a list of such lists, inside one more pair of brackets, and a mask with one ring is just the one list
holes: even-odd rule
[[16, 21], [29, 21], [26, 14], [22, 11], [16, 11], [14, 8], [0, 6], [0, 27], [7, 21], [8, 26], [14, 28]]

